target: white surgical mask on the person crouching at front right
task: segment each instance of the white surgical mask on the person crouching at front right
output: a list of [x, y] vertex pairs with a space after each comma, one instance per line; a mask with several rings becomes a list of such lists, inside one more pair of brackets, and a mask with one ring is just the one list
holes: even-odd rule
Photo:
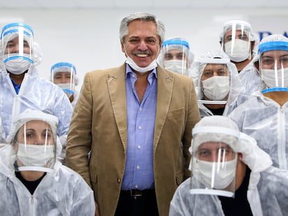
[[197, 160], [196, 163], [198, 163], [200, 171], [200, 176], [196, 176], [196, 178], [200, 178], [200, 181], [205, 183], [205, 185], [211, 186], [211, 188], [227, 188], [235, 178], [237, 157], [234, 160], [220, 163], [205, 160]]

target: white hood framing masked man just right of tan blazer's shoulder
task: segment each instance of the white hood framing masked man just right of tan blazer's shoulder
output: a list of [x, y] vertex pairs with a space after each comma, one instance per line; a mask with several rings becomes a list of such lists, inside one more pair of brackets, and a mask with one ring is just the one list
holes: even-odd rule
[[208, 63], [227, 65], [230, 72], [230, 90], [227, 103], [234, 101], [234, 99], [236, 99], [241, 92], [241, 81], [237, 67], [230, 62], [230, 58], [223, 51], [209, 51], [200, 56], [200, 58], [196, 59], [193, 63], [193, 73], [196, 74], [196, 80], [198, 81], [198, 100], [201, 100], [204, 97], [204, 93], [201, 88], [201, 77]]

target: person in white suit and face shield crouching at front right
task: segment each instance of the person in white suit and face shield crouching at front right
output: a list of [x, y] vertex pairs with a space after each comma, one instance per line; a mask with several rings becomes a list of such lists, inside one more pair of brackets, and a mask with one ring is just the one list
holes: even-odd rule
[[219, 115], [192, 133], [191, 178], [177, 188], [170, 216], [287, 215], [288, 171], [272, 167], [255, 139]]

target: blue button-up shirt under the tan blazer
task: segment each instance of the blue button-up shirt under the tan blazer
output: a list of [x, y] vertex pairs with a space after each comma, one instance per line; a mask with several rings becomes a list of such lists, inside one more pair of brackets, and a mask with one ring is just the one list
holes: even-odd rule
[[148, 76], [142, 102], [135, 89], [137, 76], [126, 67], [127, 161], [122, 190], [154, 188], [153, 139], [157, 104], [157, 71]]

